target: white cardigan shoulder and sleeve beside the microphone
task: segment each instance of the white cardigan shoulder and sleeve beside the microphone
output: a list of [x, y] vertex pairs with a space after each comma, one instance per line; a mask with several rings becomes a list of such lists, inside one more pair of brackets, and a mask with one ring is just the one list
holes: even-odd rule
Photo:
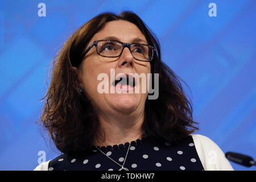
[[197, 154], [205, 170], [234, 170], [228, 159], [226, 159], [224, 152], [222, 152], [221, 148], [213, 140], [199, 134], [191, 135], [191, 137], [193, 138]]

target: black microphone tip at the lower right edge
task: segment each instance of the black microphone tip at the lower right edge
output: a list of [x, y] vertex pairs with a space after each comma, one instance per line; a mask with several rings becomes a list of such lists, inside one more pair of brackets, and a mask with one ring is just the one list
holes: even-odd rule
[[235, 152], [226, 152], [226, 158], [231, 160], [234, 163], [241, 164], [242, 166], [251, 167], [256, 166], [256, 162], [254, 162], [253, 158], [247, 155], [238, 154]]

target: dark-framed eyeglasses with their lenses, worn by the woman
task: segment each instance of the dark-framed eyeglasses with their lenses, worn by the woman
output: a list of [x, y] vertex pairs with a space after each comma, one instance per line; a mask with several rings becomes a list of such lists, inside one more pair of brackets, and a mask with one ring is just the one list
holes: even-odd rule
[[103, 57], [119, 57], [123, 49], [128, 47], [134, 59], [139, 61], [151, 61], [153, 59], [155, 48], [142, 43], [123, 43], [118, 40], [96, 40], [82, 54], [82, 57], [95, 46], [97, 53]]

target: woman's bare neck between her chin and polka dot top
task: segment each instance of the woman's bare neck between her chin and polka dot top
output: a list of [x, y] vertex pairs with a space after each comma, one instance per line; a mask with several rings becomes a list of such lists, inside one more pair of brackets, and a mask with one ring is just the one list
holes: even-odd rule
[[95, 146], [113, 146], [142, 138], [144, 112], [141, 114], [99, 114], [98, 116], [100, 138], [94, 139]]

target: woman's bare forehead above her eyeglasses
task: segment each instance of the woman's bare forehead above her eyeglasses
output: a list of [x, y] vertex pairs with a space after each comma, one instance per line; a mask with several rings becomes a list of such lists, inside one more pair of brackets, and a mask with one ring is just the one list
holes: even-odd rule
[[125, 20], [114, 20], [106, 23], [104, 28], [93, 36], [92, 41], [102, 40], [106, 37], [115, 37], [126, 43], [132, 42], [134, 39], [142, 39], [141, 42], [147, 43], [141, 30], [135, 24]]

